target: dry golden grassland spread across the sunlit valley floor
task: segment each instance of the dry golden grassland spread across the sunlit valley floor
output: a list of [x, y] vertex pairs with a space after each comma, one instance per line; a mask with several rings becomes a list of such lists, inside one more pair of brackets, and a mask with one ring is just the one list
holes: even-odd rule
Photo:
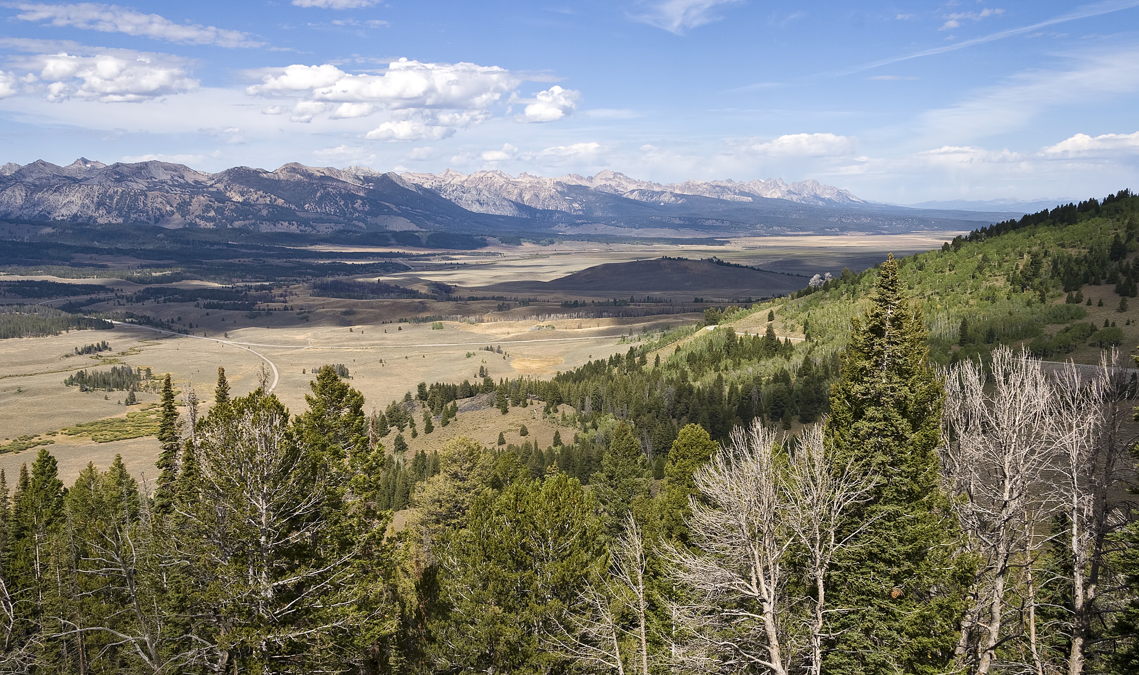
[[[519, 280], [549, 281], [603, 263], [662, 255], [689, 258], [714, 255], [776, 271], [813, 273], [837, 271], [842, 266], [859, 267], [865, 261], [871, 264], [891, 250], [899, 254], [924, 250], [940, 246], [952, 236], [952, 232], [932, 232], [898, 237], [754, 238], [726, 246], [567, 241], [544, 247], [497, 247], [472, 256], [441, 253], [432, 262], [410, 263], [413, 269], [409, 272], [382, 279], [420, 289], [425, 289], [427, 281], [474, 289]], [[23, 279], [101, 283], [122, 293], [142, 288], [120, 279]], [[174, 286], [214, 285], [185, 281]], [[556, 304], [564, 299], [562, 294], [550, 298], [555, 301], [552, 305], [525, 307], [514, 303], [509, 310], [501, 311], [494, 301], [352, 301], [314, 297], [305, 285], [289, 288], [289, 293], [287, 304], [293, 311], [264, 312], [255, 316], [238, 311], [205, 311], [191, 303], [125, 307], [100, 303], [90, 306], [92, 312], [130, 310], [146, 313], [186, 329], [192, 324], [190, 332], [195, 337], [118, 324], [109, 331], [72, 331], [54, 337], [0, 340], [0, 419], [5, 420], [0, 444], [10, 444], [22, 436], [52, 441], [47, 447], [59, 461], [60, 477], [65, 481], [73, 480], [88, 462], [107, 466], [115, 454], [123, 455], [136, 476], [154, 475], [158, 450], [154, 437], [96, 443], [90, 436], [57, 433], [82, 422], [125, 417], [128, 412], [120, 403], [125, 392], [81, 393], [77, 387], [64, 386], [64, 378], [84, 368], [148, 367], [156, 374], [170, 372], [180, 389], [192, 381], [199, 397], [208, 400], [218, 367], [226, 368], [233, 394], [241, 395], [257, 386], [262, 364], [271, 363], [277, 377], [274, 393], [296, 413], [304, 408], [311, 369], [325, 363], [343, 363], [350, 370], [352, 386], [363, 393], [370, 410], [371, 406], [382, 409], [393, 398], [402, 397], [420, 381], [474, 379], [480, 367], [485, 367], [495, 379], [519, 374], [549, 377], [590, 359], [626, 351], [629, 345], [622, 341], [622, 336], [640, 336], [699, 319], [694, 313], [551, 319], [550, 315], [567, 314]], [[1109, 290], [1104, 293], [1109, 294]], [[465, 321], [444, 321], [441, 330], [433, 330], [431, 323], [396, 323], [400, 319], [432, 314], [462, 315]], [[550, 326], [554, 328], [549, 329]], [[762, 330], [764, 327], [764, 322], [759, 322], [754, 328]], [[99, 340], [107, 340], [112, 351], [95, 356], [72, 354], [74, 347]], [[503, 354], [480, 349], [499, 345]], [[142, 405], [132, 411], [156, 400], [153, 392], [140, 393], [138, 397]], [[535, 410], [540, 409], [513, 408], [507, 415], [494, 409], [460, 413], [459, 420], [446, 428], [436, 427], [431, 435], [421, 434], [416, 439], [404, 436], [413, 451], [435, 447], [461, 434], [493, 444], [499, 431], [506, 431], [508, 442], [518, 443], [518, 426], [526, 423], [530, 439], [544, 447], [552, 442], [555, 427], [534, 419]], [[0, 454], [0, 469], [11, 479], [19, 464], [33, 460], [38, 450], [31, 447]]]

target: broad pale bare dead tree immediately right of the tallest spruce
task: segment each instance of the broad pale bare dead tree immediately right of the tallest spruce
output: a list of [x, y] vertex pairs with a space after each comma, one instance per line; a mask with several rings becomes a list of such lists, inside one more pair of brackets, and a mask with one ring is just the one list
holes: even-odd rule
[[966, 546], [980, 561], [957, 648], [959, 665], [978, 675], [992, 669], [1015, 609], [1007, 604], [1010, 574], [1031, 565], [1039, 545], [1026, 534], [1033, 529], [1054, 423], [1052, 387], [1039, 360], [998, 347], [990, 372], [992, 387], [973, 361], [947, 372], [941, 447], [947, 491], [954, 497]]

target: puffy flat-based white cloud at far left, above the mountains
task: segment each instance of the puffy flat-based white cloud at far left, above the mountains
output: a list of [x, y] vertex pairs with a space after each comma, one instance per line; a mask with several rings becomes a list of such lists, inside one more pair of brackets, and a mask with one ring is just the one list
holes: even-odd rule
[[42, 80], [48, 100], [72, 97], [101, 102], [145, 101], [194, 91], [198, 81], [186, 72], [186, 61], [162, 53], [125, 49], [91, 56], [60, 52], [17, 59]]

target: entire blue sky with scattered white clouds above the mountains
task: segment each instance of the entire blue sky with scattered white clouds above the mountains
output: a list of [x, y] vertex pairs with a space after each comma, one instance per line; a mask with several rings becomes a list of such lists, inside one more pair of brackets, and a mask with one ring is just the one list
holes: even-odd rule
[[0, 163], [1139, 188], [1139, 0], [0, 1]]

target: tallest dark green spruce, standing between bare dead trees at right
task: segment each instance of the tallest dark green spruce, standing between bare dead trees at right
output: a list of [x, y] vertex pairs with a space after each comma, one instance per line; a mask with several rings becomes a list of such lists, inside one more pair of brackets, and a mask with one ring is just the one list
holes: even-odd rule
[[827, 450], [836, 466], [871, 476], [853, 509], [828, 604], [833, 635], [823, 672], [944, 673], [953, 658], [968, 570], [954, 557], [959, 529], [939, 485], [943, 389], [928, 362], [919, 307], [902, 291], [891, 255], [862, 319], [852, 321], [830, 392]]

